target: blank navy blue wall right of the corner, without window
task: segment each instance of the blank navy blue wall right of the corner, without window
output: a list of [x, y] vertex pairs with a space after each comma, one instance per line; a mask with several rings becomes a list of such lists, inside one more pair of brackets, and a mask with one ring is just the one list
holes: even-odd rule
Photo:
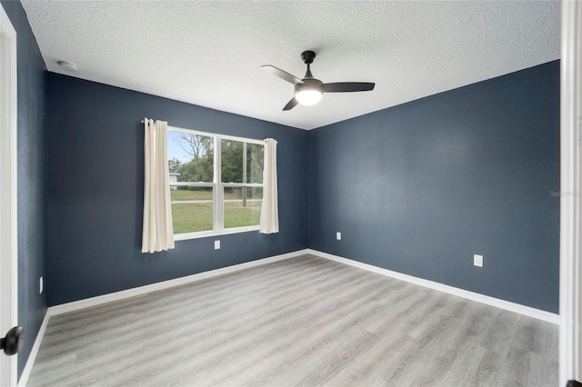
[[551, 62], [309, 132], [309, 247], [557, 313], [559, 105]]

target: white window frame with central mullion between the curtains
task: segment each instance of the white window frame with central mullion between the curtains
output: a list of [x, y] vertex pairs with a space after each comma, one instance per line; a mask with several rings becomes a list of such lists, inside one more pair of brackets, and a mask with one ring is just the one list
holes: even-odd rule
[[[213, 137], [214, 139], [214, 170], [212, 183], [188, 183], [176, 182], [168, 185], [168, 190], [172, 186], [176, 187], [212, 187], [212, 230], [198, 231], [196, 233], [175, 233], [174, 241], [185, 241], [188, 239], [204, 238], [207, 236], [226, 235], [229, 233], [247, 233], [251, 231], [258, 231], [260, 226], [243, 226], [225, 228], [225, 188], [229, 187], [249, 187], [249, 188], [263, 188], [263, 184], [258, 183], [222, 183], [222, 140], [237, 141], [247, 144], [259, 144], [265, 147], [265, 141], [256, 140], [253, 138], [237, 137], [234, 135], [215, 134], [209, 132], [202, 132], [195, 129], [186, 129], [176, 126], [167, 127], [168, 131], [180, 132], [186, 134], [204, 135], [206, 137]], [[262, 199], [261, 199], [262, 200]]]

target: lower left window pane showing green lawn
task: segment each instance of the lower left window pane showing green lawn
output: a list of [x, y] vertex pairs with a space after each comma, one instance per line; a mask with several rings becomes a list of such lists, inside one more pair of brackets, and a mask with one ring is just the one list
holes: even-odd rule
[[212, 187], [170, 187], [175, 234], [213, 229], [212, 190]]

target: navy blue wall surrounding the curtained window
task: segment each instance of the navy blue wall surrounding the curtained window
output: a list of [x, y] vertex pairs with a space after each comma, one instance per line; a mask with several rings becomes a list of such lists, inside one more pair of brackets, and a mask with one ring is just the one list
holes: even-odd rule
[[[48, 96], [49, 305], [306, 248], [306, 131], [52, 73]], [[141, 253], [145, 116], [275, 138], [280, 233], [179, 241], [175, 250]]]

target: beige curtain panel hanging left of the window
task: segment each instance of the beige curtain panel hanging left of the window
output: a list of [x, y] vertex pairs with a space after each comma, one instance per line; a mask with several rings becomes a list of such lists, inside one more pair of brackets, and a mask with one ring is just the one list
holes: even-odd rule
[[167, 166], [167, 123], [146, 118], [144, 126], [146, 168], [142, 253], [156, 253], [174, 248]]

